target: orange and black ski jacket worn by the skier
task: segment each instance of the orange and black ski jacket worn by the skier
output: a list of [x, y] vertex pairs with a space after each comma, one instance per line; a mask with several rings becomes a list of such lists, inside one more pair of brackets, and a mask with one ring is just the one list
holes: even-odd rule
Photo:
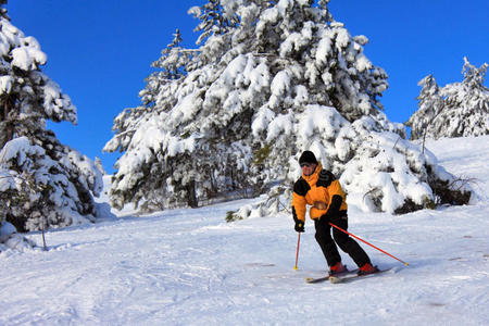
[[[341, 204], [334, 210], [337, 212], [328, 212], [333, 209], [331, 200], [334, 196], [341, 198]], [[326, 213], [346, 213], [348, 210], [347, 195], [341, 189], [341, 185], [335, 176], [326, 170], [323, 170], [321, 163], [310, 176], [302, 174], [302, 177], [293, 185], [292, 192], [292, 214], [297, 221], [305, 221], [306, 204], [311, 205], [309, 216], [312, 220], [321, 218]]]

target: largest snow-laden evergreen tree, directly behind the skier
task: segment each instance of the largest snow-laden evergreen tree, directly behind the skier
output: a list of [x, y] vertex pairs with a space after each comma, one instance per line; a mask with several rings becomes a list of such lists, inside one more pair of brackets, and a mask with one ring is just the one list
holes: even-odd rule
[[[162, 181], [151, 192], [176, 204], [223, 191], [256, 193], [277, 180], [288, 188], [300, 173], [297, 156], [310, 149], [334, 173], [355, 176], [343, 184], [366, 210], [435, 202], [431, 180], [449, 175], [386, 118], [378, 98], [387, 74], [364, 55], [366, 37], [351, 37], [327, 3], [236, 0], [192, 9], [204, 22], [220, 14], [239, 23], [205, 25], [210, 33], [187, 74], [165, 85], [174, 89], [164, 98], [172, 105], [152, 108], [118, 160], [112, 193], [126, 195], [115, 201], [139, 192], [135, 202], [145, 202], [148, 176]], [[377, 162], [372, 175], [358, 177]]]

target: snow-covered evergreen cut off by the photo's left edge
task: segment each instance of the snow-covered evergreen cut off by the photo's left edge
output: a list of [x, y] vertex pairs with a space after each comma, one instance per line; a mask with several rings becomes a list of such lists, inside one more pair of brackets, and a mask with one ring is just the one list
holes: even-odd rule
[[102, 188], [93, 162], [46, 129], [47, 120], [77, 118], [70, 98], [40, 71], [46, 60], [1, 8], [0, 218], [22, 231], [92, 221], [92, 193]]

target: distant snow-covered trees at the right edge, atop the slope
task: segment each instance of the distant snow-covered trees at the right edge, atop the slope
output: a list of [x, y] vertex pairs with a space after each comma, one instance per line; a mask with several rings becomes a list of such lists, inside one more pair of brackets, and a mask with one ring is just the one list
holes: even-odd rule
[[[489, 135], [489, 89], [484, 86], [487, 67], [485, 63], [477, 68], [464, 58], [462, 83], [448, 84], [441, 90], [436, 84], [431, 89], [424, 85], [418, 97], [419, 109], [408, 122], [414, 130], [411, 138]], [[430, 76], [419, 84], [431, 83], [427, 79]]]

